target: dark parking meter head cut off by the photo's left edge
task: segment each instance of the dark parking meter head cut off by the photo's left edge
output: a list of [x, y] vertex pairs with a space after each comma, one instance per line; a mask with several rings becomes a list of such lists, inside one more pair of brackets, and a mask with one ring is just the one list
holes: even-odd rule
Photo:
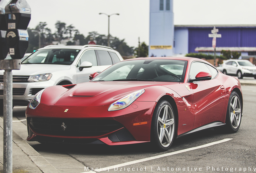
[[5, 36], [6, 36], [6, 22], [5, 22], [5, 6], [10, 3], [11, 0], [0, 0], [0, 60], [6, 58], [8, 50], [6, 47]]

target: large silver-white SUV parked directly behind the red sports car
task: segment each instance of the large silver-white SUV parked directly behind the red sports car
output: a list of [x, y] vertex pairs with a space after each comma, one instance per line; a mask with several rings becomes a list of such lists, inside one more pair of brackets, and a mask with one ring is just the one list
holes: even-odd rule
[[[12, 70], [13, 106], [27, 106], [32, 97], [46, 87], [87, 82], [89, 74], [101, 72], [122, 60], [119, 52], [107, 46], [40, 48], [21, 62], [20, 70]], [[0, 70], [1, 86], [3, 74], [4, 70]], [[3, 105], [3, 87], [0, 88], [0, 105]]]

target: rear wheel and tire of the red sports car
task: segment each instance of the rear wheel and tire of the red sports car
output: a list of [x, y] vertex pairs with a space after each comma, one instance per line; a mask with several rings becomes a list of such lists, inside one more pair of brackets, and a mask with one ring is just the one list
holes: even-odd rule
[[238, 131], [242, 119], [242, 103], [239, 95], [233, 91], [229, 97], [226, 115], [226, 129], [229, 133]]

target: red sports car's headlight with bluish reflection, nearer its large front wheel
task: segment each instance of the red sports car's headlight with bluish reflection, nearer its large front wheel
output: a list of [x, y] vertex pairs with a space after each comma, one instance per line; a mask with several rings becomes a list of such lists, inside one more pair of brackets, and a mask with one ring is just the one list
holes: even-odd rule
[[126, 95], [122, 99], [119, 99], [118, 101], [112, 103], [108, 111], [116, 111], [120, 109], [124, 109], [128, 107], [130, 104], [132, 104], [140, 95], [142, 95], [145, 92], [145, 89], [135, 91], [129, 95]]

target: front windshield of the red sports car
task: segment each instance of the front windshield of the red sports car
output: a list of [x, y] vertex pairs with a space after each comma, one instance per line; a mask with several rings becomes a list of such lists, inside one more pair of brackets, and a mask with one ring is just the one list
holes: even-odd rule
[[92, 81], [162, 81], [183, 82], [187, 61], [129, 60], [107, 68]]

